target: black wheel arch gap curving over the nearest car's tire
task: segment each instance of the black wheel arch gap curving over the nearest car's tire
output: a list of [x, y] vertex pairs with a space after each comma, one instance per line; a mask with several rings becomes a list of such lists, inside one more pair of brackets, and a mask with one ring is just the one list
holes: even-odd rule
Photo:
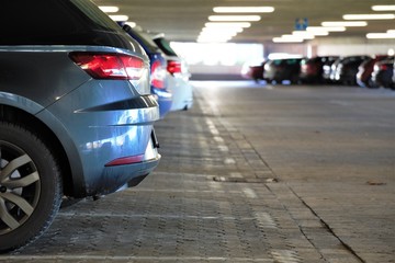
[[75, 196], [76, 187], [70, 161], [63, 144], [55, 133], [33, 114], [7, 104], [0, 104], [0, 119], [23, 125], [35, 133], [40, 138], [44, 138], [47, 147], [50, 148], [50, 151], [56, 156], [56, 159], [58, 159], [61, 170], [64, 194], [67, 196]]

